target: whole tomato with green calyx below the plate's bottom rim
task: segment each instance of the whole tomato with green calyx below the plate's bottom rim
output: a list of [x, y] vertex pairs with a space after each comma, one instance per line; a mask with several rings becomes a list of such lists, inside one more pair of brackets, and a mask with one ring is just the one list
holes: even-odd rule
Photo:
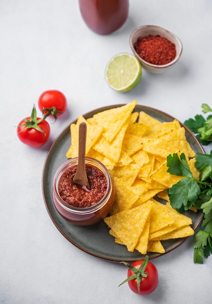
[[129, 267], [127, 279], [122, 284], [128, 282], [130, 289], [141, 295], [147, 295], [156, 289], [159, 282], [158, 270], [155, 265], [148, 261], [148, 256], [144, 260], [132, 263], [132, 265], [126, 262], [122, 263]]

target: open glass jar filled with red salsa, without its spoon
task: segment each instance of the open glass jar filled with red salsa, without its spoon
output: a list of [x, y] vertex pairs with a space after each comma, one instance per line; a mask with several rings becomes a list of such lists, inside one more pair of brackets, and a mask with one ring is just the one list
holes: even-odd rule
[[86, 171], [91, 189], [73, 183], [78, 157], [57, 169], [53, 180], [53, 203], [58, 213], [70, 222], [86, 226], [103, 220], [110, 212], [115, 190], [106, 167], [86, 157]]

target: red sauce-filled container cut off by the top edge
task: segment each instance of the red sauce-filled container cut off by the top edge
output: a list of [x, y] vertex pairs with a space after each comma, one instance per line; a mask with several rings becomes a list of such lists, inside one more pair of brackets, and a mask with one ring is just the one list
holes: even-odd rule
[[97, 34], [110, 34], [126, 21], [129, 0], [79, 0], [81, 15]]

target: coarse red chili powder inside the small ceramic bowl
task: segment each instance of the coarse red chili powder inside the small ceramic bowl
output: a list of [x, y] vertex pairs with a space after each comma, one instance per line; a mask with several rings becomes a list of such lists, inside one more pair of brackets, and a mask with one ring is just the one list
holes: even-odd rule
[[175, 59], [175, 44], [159, 35], [139, 37], [134, 45], [139, 56], [154, 65], [166, 65]]

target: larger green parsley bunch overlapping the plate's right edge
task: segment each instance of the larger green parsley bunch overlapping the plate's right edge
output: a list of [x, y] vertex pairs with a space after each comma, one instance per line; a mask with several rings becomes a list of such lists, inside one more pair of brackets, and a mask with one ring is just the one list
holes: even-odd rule
[[195, 179], [184, 153], [168, 155], [167, 167], [170, 174], [183, 178], [168, 189], [170, 203], [178, 212], [192, 206], [204, 213], [201, 228], [194, 233], [194, 263], [203, 264], [204, 257], [212, 253], [212, 151], [210, 154], [197, 153], [195, 167], [200, 171]]

